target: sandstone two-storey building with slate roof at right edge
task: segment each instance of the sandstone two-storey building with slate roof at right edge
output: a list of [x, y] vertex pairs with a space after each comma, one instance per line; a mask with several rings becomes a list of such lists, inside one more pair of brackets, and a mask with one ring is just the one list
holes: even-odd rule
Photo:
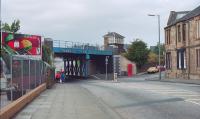
[[200, 80], [200, 6], [171, 11], [165, 27], [166, 77]]

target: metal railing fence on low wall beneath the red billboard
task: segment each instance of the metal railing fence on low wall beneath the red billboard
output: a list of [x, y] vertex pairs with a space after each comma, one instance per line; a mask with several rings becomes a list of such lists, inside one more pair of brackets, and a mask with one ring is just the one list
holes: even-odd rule
[[[3, 60], [1, 63], [3, 63]], [[9, 77], [1, 75], [3, 82], [1, 82], [0, 108], [44, 83], [48, 79], [47, 73], [50, 74], [52, 80], [54, 79], [54, 72], [51, 72], [50, 65], [41, 59], [30, 56], [10, 56], [9, 73], [6, 74]], [[1, 74], [4, 74], [4, 72], [1, 72]]]

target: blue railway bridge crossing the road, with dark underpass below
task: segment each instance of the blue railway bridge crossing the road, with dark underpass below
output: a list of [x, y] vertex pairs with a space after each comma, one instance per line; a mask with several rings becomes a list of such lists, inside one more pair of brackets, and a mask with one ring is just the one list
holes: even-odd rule
[[54, 57], [63, 59], [68, 79], [88, 78], [94, 74], [113, 73], [112, 51], [90, 44], [53, 41]]

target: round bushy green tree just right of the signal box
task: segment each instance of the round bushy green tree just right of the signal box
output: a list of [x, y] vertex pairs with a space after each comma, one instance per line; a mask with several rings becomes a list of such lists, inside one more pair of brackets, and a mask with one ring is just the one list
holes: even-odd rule
[[134, 61], [138, 68], [141, 68], [142, 65], [147, 63], [148, 54], [149, 49], [147, 48], [146, 43], [141, 40], [136, 40], [132, 42], [125, 56], [129, 60]]

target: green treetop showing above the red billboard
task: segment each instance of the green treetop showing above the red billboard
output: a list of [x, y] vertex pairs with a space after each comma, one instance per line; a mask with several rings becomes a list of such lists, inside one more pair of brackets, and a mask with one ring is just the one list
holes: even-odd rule
[[3, 23], [2, 30], [6, 32], [16, 33], [20, 29], [20, 21], [14, 20], [10, 25], [8, 23]]

